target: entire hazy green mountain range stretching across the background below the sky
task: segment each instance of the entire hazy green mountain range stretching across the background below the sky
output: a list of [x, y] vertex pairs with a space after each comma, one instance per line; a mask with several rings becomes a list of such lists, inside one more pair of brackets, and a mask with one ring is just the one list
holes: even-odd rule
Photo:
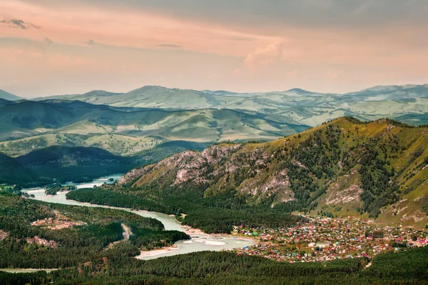
[[0, 98], [0, 141], [10, 141], [0, 143], [0, 151], [11, 156], [52, 145], [132, 155], [166, 141], [269, 141], [340, 116], [428, 124], [428, 84], [347, 94], [144, 86], [128, 93], [94, 90], [32, 101], [1, 91]]

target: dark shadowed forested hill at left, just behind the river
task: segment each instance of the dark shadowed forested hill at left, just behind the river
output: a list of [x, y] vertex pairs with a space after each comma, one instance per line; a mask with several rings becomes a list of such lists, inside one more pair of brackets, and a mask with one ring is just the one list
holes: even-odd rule
[[143, 165], [139, 157], [116, 156], [91, 147], [49, 146], [12, 158], [0, 153], [0, 183], [43, 186], [53, 181], [91, 181]]

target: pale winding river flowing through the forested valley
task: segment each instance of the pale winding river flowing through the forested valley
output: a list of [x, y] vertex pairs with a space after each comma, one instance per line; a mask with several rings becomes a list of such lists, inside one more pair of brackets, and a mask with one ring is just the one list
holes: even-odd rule
[[[101, 177], [92, 181], [91, 183], [86, 184], [74, 184], [78, 189], [83, 188], [92, 188], [93, 186], [100, 186], [103, 183], [113, 183], [113, 181], [109, 181], [109, 178], [113, 178], [115, 181], [121, 177], [121, 174], [113, 174], [111, 176]], [[71, 185], [71, 184], [68, 184]], [[162, 222], [163, 226], [165, 226], [165, 230], [176, 230], [176, 231], [185, 231], [191, 237], [189, 241], [177, 241], [170, 248], [165, 249], [157, 249], [154, 251], [141, 251], [139, 256], [136, 256], [137, 259], [156, 259], [163, 256], [173, 256], [176, 254], [188, 254], [190, 252], [195, 251], [221, 251], [227, 249], [236, 249], [242, 248], [245, 246], [254, 245], [254, 241], [250, 239], [242, 239], [238, 236], [222, 234], [222, 235], [214, 235], [214, 234], [204, 234], [202, 231], [198, 229], [191, 229], [188, 226], [182, 226], [178, 221], [175, 220], [174, 216], [169, 216], [167, 214], [158, 213], [154, 211], [133, 211], [131, 209], [126, 208], [116, 208], [110, 206], [103, 205], [95, 205], [88, 203], [81, 203], [78, 201], [68, 200], [66, 199], [65, 193], [58, 193], [54, 196], [46, 195], [44, 193], [44, 189], [36, 188], [36, 189], [24, 189], [24, 192], [28, 194], [33, 194], [34, 198], [39, 201], [46, 201], [49, 203], [57, 203], [57, 204], [66, 204], [66, 205], [78, 205], [78, 206], [93, 206], [93, 207], [103, 207], [103, 208], [113, 208], [113, 209], [121, 209], [125, 211], [131, 211], [140, 216], [145, 216], [148, 218], [154, 218]]]

